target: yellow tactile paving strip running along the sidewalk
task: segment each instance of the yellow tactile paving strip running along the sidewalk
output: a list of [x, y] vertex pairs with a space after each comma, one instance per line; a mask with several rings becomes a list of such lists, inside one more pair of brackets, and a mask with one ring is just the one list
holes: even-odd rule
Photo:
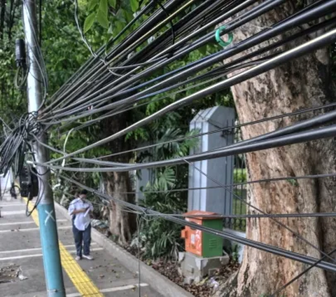
[[[27, 199], [24, 199], [27, 202]], [[29, 211], [32, 209], [32, 207], [32, 205], [29, 205]], [[32, 212], [31, 217], [34, 219], [36, 225], [39, 226], [37, 212]], [[81, 296], [104, 297], [97, 286], [92, 282], [90, 277], [88, 277], [80, 265], [78, 265], [73, 256], [69, 254], [69, 251], [66, 251], [62, 242], [59, 241], [58, 243], [59, 252], [61, 254], [62, 267], [69, 276], [69, 279], [71, 279], [73, 285], [76, 286], [76, 289], [81, 294]]]

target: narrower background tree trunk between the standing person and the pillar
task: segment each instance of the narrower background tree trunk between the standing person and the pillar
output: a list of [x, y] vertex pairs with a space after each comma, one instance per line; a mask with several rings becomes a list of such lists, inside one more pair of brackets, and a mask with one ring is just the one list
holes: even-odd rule
[[[114, 134], [127, 126], [128, 113], [121, 113], [118, 116], [113, 116], [102, 122], [102, 129], [104, 137]], [[129, 149], [129, 144], [125, 141], [125, 137], [120, 137], [109, 143], [110, 149], [113, 153], [126, 151]], [[130, 154], [109, 158], [113, 162], [128, 163], [130, 161]], [[106, 182], [107, 194], [113, 198], [123, 200], [125, 202], [134, 203], [134, 195], [132, 192], [130, 174], [128, 172], [108, 172], [104, 174]], [[135, 230], [135, 216], [130, 212], [125, 212], [125, 209], [120, 204], [111, 200], [110, 212], [110, 231], [118, 239], [119, 244], [127, 244], [132, 238]]]

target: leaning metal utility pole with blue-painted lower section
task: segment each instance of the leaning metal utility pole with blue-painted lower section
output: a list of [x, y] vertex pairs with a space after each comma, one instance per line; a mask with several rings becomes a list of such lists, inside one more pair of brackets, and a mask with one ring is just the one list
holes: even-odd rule
[[[42, 98], [41, 60], [38, 52], [38, 30], [35, 0], [22, 0], [23, 22], [25, 29], [26, 48], [29, 59], [29, 73], [27, 76], [27, 96], [29, 113], [38, 113]], [[37, 114], [36, 114], [37, 118]], [[38, 135], [39, 141], [46, 143], [46, 134]], [[37, 163], [48, 161], [48, 151], [35, 141], [33, 153]], [[38, 188], [41, 201], [38, 205], [38, 221], [40, 226], [43, 265], [48, 297], [65, 297], [61, 259], [57, 235], [52, 188], [50, 188], [50, 172], [48, 168], [38, 166]]]

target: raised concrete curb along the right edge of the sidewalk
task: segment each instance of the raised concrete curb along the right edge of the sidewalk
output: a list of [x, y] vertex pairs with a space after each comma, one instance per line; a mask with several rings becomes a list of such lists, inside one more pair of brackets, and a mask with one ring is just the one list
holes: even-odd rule
[[[71, 221], [67, 210], [55, 202], [55, 209], [63, 214], [66, 219]], [[106, 251], [111, 254], [111, 256], [118, 258], [121, 264], [125, 266], [128, 270], [137, 271], [139, 270], [139, 260], [137, 257], [130, 254], [128, 251], [125, 251], [122, 247], [119, 247], [113, 241], [109, 240], [106, 236], [99, 233], [96, 229], [92, 228], [92, 240], [97, 242], [100, 246], [104, 247]], [[194, 297], [193, 294], [181, 288], [174, 282], [172, 282], [167, 277], [161, 275], [158, 271], [151, 268], [151, 266], [146, 265], [144, 262], [140, 262], [141, 269], [141, 282], [146, 282], [153, 289], [158, 291], [165, 297]]]

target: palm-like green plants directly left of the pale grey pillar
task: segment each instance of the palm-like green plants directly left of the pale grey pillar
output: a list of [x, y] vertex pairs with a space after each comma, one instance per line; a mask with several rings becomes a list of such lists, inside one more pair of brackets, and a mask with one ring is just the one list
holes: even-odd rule
[[[172, 118], [180, 120], [179, 116], [173, 116]], [[138, 160], [166, 160], [176, 156], [187, 156], [190, 148], [198, 144], [197, 138], [171, 141], [167, 144], [165, 142], [192, 136], [197, 131], [183, 134], [181, 129], [176, 127], [176, 123], [174, 123], [174, 126], [174, 128], [165, 129], [165, 120], [155, 123], [148, 135], [151, 135], [155, 142], [160, 145], [138, 156]], [[141, 201], [141, 205], [165, 214], [183, 214], [186, 212], [188, 192], [172, 192], [172, 190], [186, 187], [188, 184], [188, 167], [160, 168], [155, 170], [154, 175], [153, 182], [148, 182], [146, 189], [144, 189], [145, 198]], [[136, 235], [132, 244], [141, 247], [144, 258], [167, 257], [176, 259], [183, 244], [181, 226], [165, 219], [146, 219], [142, 223], [139, 237]]]

